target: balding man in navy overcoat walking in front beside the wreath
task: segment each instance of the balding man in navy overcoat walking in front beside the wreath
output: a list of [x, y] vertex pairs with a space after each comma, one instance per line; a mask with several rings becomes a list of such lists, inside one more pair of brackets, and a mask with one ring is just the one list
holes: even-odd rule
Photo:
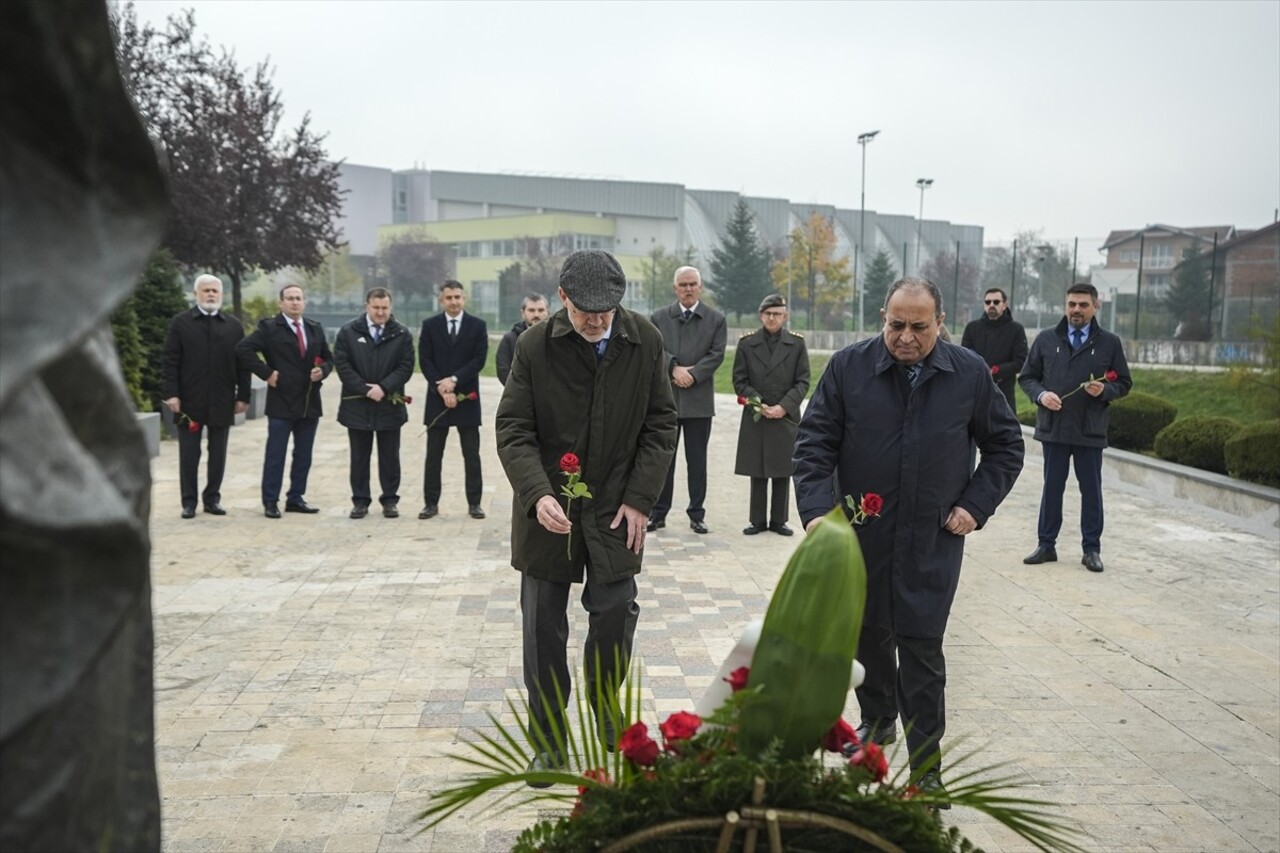
[[895, 282], [881, 318], [883, 333], [833, 355], [818, 380], [796, 441], [796, 503], [812, 529], [844, 496], [883, 501], [878, 515], [854, 516], [867, 561], [858, 735], [891, 743], [901, 715], [913, 774], [931, 788], [942, 784], [942, 637], [964, 538], [1014, 487], [1023, 433], [986, 362], [938, 339], [942, 297], [932, 282]]

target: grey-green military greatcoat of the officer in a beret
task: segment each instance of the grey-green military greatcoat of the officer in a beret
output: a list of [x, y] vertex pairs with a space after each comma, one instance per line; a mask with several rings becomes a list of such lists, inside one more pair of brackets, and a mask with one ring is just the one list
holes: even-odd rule
[[782, 406], [790, 419], [762, 416], [755, 420], [750, 406], [742, 406], [733, 473], [791, 476], [800, 403], [809, 393], [809, 350], [804, 338], [782, 329], [771, 352], [764, 329], [744, 334], [733, 355], [733, 391], [739, 397], [759, 397], [767, 406]]

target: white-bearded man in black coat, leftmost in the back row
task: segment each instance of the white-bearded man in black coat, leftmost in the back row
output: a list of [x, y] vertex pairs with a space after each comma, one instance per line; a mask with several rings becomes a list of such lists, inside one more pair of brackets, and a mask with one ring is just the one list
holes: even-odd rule
[[164, 405], [178, 423], [184, 519], [196, 516], [201, 433], [209, 435], [205, 491], [200, 494], [205, 512], [227, 515], [221, 505], [227, 439], [236, 415], [248, 411], [250, 394], [250, 373], [236, 355], [244, 327], [221, 311], [221, 280], [201, 275], [193, 289], [196, 306], [173, 318], [164, 341]]

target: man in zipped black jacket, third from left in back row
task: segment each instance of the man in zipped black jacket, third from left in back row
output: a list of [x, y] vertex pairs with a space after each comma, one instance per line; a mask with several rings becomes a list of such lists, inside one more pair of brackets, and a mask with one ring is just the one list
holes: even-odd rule
[[399, 516], [399, 430], [408, 420], [413, 375], [413, 336], [392, 316], [392, 295], [375, 287], [365, 295], [365, 313], [338, 329], [334, 368], [342, 382], [338, 423], [351, 447], [351, 517], [369, 515], [369, 457], [378, 439], [379, 502], [388, 519]]

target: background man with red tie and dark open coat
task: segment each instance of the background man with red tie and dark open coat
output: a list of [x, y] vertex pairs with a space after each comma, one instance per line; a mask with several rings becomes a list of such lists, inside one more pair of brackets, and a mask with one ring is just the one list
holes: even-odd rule
[[311, 448], [320, 425], [320, 384], [333, 371], [324, 327], [302, 316], [306, 296], [297, 284], [280, 288], [280, 313], [265, 318], [236, 351], [241, 366], [266, 382], [266, 452], [262, 459], [262, 514], [280, 517], [284, 456], [293, 437], [285, 512], [319, 512], [306, 502]]

